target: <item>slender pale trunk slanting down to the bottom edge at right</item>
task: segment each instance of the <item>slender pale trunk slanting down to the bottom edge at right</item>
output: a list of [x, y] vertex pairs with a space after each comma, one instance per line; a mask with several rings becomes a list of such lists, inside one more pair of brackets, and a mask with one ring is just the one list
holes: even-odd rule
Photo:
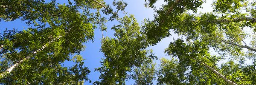
[[[197, 61], [196, 59], [192, 58], [193, 60]], [[224, 77], [222, 74], [220, 74], [218, 71], [216, 71], [214, 68], [210, 67], [209, 65], [205, 64], [204, 62], [200, 62], [201, 64], [203, 64], [207, 69], [209, 69], [210, 71], [212, 71], [214, 74], [218, 75], [218, 77], [220, 77], [221, 79], [224, 79], [225, 82], [227, 82], [230, 85], [237, 85], [235, 82], [232, 82], [231, 80], [227, 79], [226, 77]]]

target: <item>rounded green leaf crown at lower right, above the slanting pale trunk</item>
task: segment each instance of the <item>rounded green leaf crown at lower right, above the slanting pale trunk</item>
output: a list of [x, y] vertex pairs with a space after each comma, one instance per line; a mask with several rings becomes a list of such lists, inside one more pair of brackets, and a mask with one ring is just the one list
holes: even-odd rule
[[[218, 75], [212, 74], [202, 63], [216, 68], [220, 57], [210, 56], [205, 42], [195, 41], [186, 45], [183, 40], [177, 39], [166, 48], [166, 53], [172, 60], [161, 60], [158, 84], [224, 84]], [[174, 59], [177, 58], [177, 59]], [[168, 78], [174, 78], [169, 80]]]

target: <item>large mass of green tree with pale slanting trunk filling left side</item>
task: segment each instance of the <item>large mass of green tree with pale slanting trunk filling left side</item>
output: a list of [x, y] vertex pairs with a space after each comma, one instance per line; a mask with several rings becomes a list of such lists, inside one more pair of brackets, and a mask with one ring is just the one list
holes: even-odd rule
[[[81, 57], [72, 67], [61, 63], [71, 60], [84, 48], [83, 42], [93, 40], [91, 22], [95, 15], [89, 9], [99, 9], [96, 2], [74, 0], [66, 4], [52, 0], [0, 1], [1, 20], [20, 17], [27, 30], [6, 30], [1, 35], [1, 84], [83, 84], [90, 73]], [[83, 13], [78, 11], [83, 9]], [[25, 58], [26, 57], [26, 58]], [[76, 56], [75, 56], [76, 57]], [[10, 69], [8, 69], [11, 67]]]

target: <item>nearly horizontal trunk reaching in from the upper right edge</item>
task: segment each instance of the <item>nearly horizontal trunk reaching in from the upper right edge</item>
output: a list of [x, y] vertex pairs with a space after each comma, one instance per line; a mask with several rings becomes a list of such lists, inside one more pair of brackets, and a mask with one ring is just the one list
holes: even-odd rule
[[251, 21], [252, 23], [256, 23], [256, 18], [253, 17], [239, 17], [235, 18], [234, 20], [214, 20], [214, 21], [208, 21], [208, 23], [231, 23], [231, 22], [241, 22], [241, 21]]

